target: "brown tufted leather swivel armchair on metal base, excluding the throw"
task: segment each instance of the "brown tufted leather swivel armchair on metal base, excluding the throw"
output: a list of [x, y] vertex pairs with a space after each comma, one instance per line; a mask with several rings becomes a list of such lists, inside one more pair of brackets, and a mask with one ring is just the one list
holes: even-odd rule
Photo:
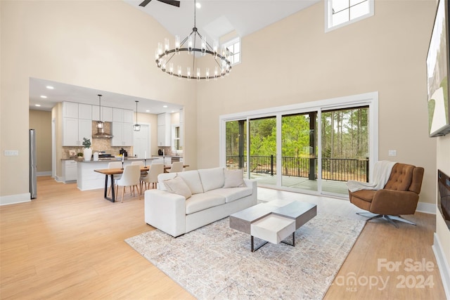
[[[423, 171], [422, 167], [411, 164], [394, 164], [390, 178], [382, 190], [357, 190], [353, 193], [349, 191], [350, 202], [360, 209], [376, 214], [367, 221], [385, 218], [397, 228], [399, 226], [393, 220], [416, 225], [399, 215], [416, 212]], [[356, 214], [367, 216], [366, 212]]]

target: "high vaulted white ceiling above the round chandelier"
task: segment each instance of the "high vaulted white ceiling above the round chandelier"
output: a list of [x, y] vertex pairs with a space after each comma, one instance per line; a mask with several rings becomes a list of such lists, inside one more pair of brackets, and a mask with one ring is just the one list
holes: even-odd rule
[[[131, 6], [158, 20], [172, 35], [182, 38], [191, 33], [194, 25], [194, 0], [181, 0], [180, 7], [152, 0], [146, 7], [143, 0], [124, 0]], [[236, 30], [245, 37], [288, 15], [292, 15], [321, 0], [196, 0], [195, 22], [198, 31], [210, 40]], [[212, 43], [210, 43], [212, 44]]]

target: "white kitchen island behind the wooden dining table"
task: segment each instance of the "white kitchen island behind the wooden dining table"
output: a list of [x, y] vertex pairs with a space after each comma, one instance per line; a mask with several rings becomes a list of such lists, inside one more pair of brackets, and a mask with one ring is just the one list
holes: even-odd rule
[[[147, 165], [152, 163], [153, 158], [146, 159]], [[124, 159], [124, 166], [131, 164], [131, 162], [141, 161], [143, 158], [129, 157]], [[97, 188], [105, 187], [105, 175], [95, 172], [95, 169], [108, 169], [110, 162], [121, 162], [117, 159], [101, 159], [98, 161], [84, 160], [77, 161], [77, 188], [79, 190], [96, 190]]]

